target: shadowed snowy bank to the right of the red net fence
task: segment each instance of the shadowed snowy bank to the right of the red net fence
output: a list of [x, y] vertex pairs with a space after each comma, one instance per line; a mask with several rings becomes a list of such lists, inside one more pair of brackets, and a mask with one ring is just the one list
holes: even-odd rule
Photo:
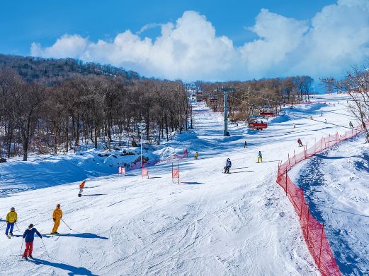
[[291, 170], [344, 275], [369, 274], [369, 145], [344, 141]]

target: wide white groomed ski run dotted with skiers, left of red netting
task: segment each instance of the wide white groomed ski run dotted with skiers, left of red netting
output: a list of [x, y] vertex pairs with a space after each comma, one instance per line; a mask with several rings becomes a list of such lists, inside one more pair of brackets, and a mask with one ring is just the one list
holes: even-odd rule
[[[50, 233], [57, 203], [71, 229], [62, 222], [58, 232], [70, 234], [44, 236], [45, 248], [35, 237], [38, 263], [20, 262], [22, 238], [3, 236], [0, 274], [319, 275], [276, 173], [278, 161], [299, 150], [297, 138], [305, 144], [344, 129], [309, 119], [324, 112], [323, 121], [348, 124], [346, 107], [338, 105], [288, 109], [261, 132], [231, 124], [230, 137], [222, 136], [222, 114], [198, 105], [195, 129], [169, 144], [190, 150], [179, 164], [179, 185], [171, 180], [171, 164], [162, 164], [149, 168], [149, 179], [137, 171], [91, 179], [81, 198], [76, 183], [1, 198], [2, 213], [16, 207], [22, 232], [33, 223]], [[222, 174], [227, 157], [231, 174]]]

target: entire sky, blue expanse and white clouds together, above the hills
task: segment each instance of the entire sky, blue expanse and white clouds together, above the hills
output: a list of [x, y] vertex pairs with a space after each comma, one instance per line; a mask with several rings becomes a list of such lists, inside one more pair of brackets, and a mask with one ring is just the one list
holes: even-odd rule
[[[369, 25], [368, 2], [3, 0], [0, 53], [70, 56], [188, 80], [337, 75], [368, 56], [362, 33]], [[159, 25], [137, 34], [153, 23]], [[354, 26], [361, 39], [346, 45]], [[344, 47], [331, 49], [337, 42]], [[322, 47], [334, 56], [324, 60]], [[329, 64], [313, 68], [312, 59], [315, 67]]]

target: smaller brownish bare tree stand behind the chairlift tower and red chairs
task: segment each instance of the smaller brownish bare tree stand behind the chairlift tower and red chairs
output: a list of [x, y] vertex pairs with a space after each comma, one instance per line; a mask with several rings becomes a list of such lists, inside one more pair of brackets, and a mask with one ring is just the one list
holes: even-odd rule
[[[206, 104], [218, 112], [223, 111], [224, 105], [221, 88], [234, 88], [228, 93], [229, 118], [234, 121], [249, 121], [260, 112], [278, 113], [285, 104], [310, 101], [313, 83], [310, 76], [295, 76], [201, 85], [205, 91]], [[217, 101], [211, 102], [210, 99], [214, 98]]]

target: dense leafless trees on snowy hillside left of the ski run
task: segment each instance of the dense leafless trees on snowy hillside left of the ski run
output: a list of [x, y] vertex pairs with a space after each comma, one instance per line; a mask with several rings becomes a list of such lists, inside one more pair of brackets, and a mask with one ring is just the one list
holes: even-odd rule
[[0, 157], [27, 160], [28, 152], [56, 154], [87, 144], [111, 150], [114, 139], [121, 145], [127, 136], [135, 144], [140, 136], [159, 144], [187, 128], [190, 107], [181, 81], [132, 78], [117, 68], [91, 73], [88, 64], [80, 65], [84, 73], [68, 65], [62, 75], [33, 78], [15, 64], [0, 66]]

